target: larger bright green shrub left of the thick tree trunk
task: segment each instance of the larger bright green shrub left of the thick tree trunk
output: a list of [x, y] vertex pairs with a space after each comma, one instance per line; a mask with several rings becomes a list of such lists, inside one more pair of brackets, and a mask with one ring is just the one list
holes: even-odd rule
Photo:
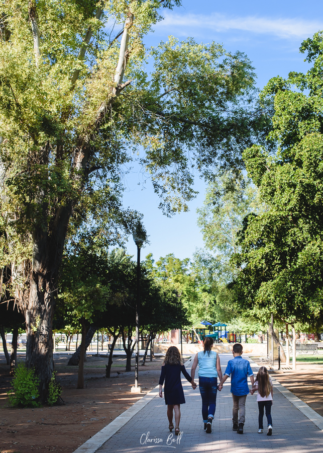
[[9, 401], [13, 406], [38, 407], [39, 379], [34, 369], [26, 368], [24, 363], [19, 363], [15, 370], [12, 382], [13, 390], [8, 392]]

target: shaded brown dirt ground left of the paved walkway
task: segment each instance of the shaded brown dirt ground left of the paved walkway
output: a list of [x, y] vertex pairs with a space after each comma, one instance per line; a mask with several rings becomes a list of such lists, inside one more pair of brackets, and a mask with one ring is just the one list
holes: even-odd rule
[[[83, 390], [76, 390], [77, 366], [67, 366], [69, 355], [55, 354], [57, 380], [65, 405], [22, 409], [8, 407], [11, 378], [5, 359], [0, 359], [0, 452], [62, 451], [79, 445], [128, 409], [159, 381], [162, 357], [139, 368], [143, 394], [131, 394], [134, 371], [125, 373], [125, 359], [114, 357], [110, 379], [105, 378], [107, 357], [87, 357]], [[20, 356], [19, 360], [24, 357]], [[133, 361], [134, 365], [134, 361]], [[133, 366], [134, 369], [134, 366]], [[122, 374], [117, 374], [119, 371]]]

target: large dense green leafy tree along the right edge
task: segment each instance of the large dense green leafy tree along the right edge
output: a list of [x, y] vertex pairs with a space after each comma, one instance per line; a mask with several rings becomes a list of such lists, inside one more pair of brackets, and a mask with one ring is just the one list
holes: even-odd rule
[[269, 209], [244, 220], [243, 266], [235, 286], [245, 307], [263, 319], [271, 313], [293, 327], [320, 322], [322, 304], [323, 35], [316, 33], [300, 48], [313, 66], [305, 73], [274, 78], [262, 98], [273, 100], [273, 131], [277, 143], [268, 155], [260, 145], [246, 149], [248, 174]]

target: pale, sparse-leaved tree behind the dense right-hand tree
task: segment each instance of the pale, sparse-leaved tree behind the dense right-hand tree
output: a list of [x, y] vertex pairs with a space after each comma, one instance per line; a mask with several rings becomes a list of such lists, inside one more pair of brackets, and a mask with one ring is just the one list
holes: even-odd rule
[[212, 320], [245, 325], [250, 319], [238, 306], [227, 284], [240, 272], [231, 257], [240, 251], [238, 233], [242, 221], [249, 212], [264, 209], [257, 189], [243, 175], [237, 177], [225, 172], [207, 187], [203, 206], [197, 209], [197, 224], [203, 233], [205, 248], [195, 252], [192, 266], [200, 285], [213, 297]]

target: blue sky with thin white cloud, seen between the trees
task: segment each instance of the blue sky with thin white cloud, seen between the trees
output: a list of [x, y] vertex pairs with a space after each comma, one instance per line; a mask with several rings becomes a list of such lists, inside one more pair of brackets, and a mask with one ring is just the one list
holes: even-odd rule
[[[146, 38], [147, 46], [166, 41], [169, 35], [180, 40], [187, 37], [197, 42], [222, 43], [226, 50], [245, 52], [253, 62], [259, 88], [276, 75], [287, 77], [289, 71], [308, 69], [304, 55], [299, 53], [303, 39], [323, 30], [322, 3], [311, 0], [271, 0], [244, 2], [231, 0], [183, 0], [182, 7], [164, 11], [164, 21]], [[203, 203], [205, 184], [196, 178], [199, 195], [190, 202], [189, 212], [168, 218], [158, 209], [159, 199], [150, 181], [143, 183], [138, 168], [127, 177], [125, 206], [144, 214], [144, 224], [150, 245], [142, 255], [152, 252], [155, 259], [174, 253], [178, 258], [191, 258], [196, 247], [203, 247], [202, 235], [196, 225], [196, 208]], [[136, 253], [132, 238], [127, 244], [129, 253]]]

